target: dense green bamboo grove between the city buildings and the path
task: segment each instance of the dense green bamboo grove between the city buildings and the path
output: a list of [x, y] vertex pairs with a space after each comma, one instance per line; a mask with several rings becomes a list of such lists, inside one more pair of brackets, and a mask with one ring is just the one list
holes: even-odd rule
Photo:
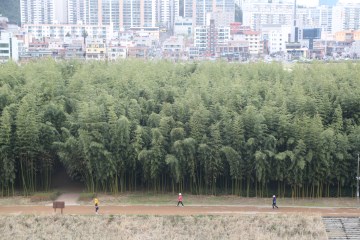
[[[354, 195], [360, 66], [0, 65], [0, 187]], [[346, 190], [346, 192], [344, 192]]]

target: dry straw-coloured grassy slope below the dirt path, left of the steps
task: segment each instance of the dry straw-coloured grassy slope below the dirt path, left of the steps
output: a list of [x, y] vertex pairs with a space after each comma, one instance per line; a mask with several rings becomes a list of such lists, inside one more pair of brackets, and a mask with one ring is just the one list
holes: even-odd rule
[[326, 239], [320, 217], [0, 216], [4, 239]]

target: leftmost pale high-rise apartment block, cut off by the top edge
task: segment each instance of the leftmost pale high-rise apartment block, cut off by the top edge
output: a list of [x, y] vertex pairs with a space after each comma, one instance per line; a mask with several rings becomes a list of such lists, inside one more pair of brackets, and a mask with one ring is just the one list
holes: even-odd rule
[[54, 23], [55, 0], [20, 0], [21, 24]]

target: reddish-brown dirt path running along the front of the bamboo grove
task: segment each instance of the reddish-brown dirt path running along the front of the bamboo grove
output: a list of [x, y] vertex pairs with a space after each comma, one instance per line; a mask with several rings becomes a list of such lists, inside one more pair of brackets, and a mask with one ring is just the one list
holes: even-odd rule
[[[57, 210], [57, 214], [60, 210]], [[201, 214], [308, 214], [320, 216], [360, 217], [359, 208], [307, 208], [254, 206], [100, 206], [100, 214], [136, 214], [136, 215], [201, 215]], [[51, 206], [3, 206], [0, 215], [54, 214]], [[66, 206], [64, 214], [94, 214], [93, 206]]]

